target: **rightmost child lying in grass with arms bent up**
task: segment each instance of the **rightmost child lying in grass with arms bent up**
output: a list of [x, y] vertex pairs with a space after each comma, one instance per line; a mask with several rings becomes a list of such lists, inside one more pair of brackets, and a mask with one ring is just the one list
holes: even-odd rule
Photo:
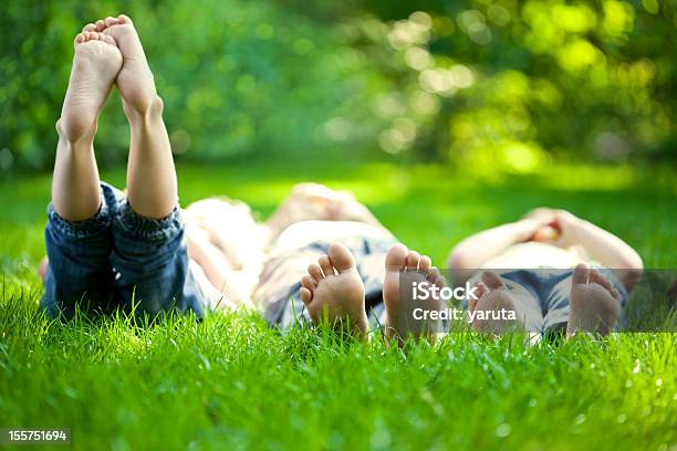
[[[591, 268], [591, 265], [593, 268]], [[478, 321], [479, 331], [566, 328], [607, 334], [642, 274], [642, 259], [610, 232], [564, 210], [540, 208], [454, 248], [456, 284], [470, 281], [469, 310], [504, 308], [515, 322]], [[478, 269], [501, 269], [481, 271]]]

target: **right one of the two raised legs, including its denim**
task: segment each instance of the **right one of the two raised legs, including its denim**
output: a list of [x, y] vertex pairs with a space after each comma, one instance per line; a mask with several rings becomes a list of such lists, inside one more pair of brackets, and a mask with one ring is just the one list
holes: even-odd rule
[[115, 286], [127, 310], [200, 315], [206, 301], [189, 270], [171, 148], [140, 41], [126, 17], [87, 27], [114, 38], [123, 54], [116, 84], [132, 128], [128, 197], [113, 219]]

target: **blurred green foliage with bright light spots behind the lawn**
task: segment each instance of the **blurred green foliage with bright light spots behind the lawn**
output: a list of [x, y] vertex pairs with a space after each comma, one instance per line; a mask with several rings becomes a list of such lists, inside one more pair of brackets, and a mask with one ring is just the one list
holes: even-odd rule
[[[132, 15], [178, 158], [396, 155], [528, 172], [675, 159], [676, 0], [2, 2], [0, 171], [49, 167], [72, 39]], [[124, 161], [119, 101], [100, 161]], [[390, 157], [393, 158], [393, 157]]]

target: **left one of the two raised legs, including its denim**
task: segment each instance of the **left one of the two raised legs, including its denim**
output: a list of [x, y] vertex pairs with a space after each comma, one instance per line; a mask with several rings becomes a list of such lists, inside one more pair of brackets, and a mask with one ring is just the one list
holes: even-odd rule
[[[45, 228], [50, 259], [42, 306], [72, 316], [75, 306], [101, 308], [112, 294], [108, 203], [115, 191], [102, 187], [94, 159], [96, 117], [122, 66], [115, 42], [102, 33], [75, 38], [75, 56], [61, 119]], [[103, 203], [102, 196], [103, 192]]]

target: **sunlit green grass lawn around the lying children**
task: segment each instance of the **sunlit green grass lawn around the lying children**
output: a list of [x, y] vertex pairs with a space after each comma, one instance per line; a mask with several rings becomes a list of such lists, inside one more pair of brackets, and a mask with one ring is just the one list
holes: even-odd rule
[[[481, 228], [539, 204], [567, 208], [675, 268], [669, 170], [563, 167], [471, 177], [398, 168], [179, 167], [181, 201], [228, 195], [265, 217], [296, 181], [355, 191], [444, 266]], [[124, 174], [105, 174], [122, 185]], [[677, 447], [675, 334], [525, 347], [454, 334], [408, 353], [253, 314], [66, 326], [35, 308], [49, 178], [0, 186], [0, 428], [71, 428], [76, 449], [648, 449]]]

